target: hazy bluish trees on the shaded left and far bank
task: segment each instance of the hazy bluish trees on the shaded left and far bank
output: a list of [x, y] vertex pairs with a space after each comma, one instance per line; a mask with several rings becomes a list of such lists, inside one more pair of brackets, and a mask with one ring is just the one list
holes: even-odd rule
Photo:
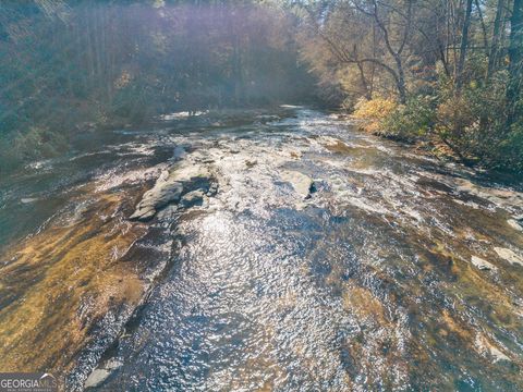
[[82, 122], [307, 99], [295, 23], [250, 1], [2, 1], [0, 139], [23, 156]]

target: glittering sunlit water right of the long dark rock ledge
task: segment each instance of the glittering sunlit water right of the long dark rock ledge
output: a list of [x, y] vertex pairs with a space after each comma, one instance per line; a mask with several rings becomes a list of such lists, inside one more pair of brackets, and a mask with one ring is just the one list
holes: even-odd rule
[[[220, 192], [180, 221], [180, 268], [99, 389], [521, 388], [521, 271], [492, 247], [521, 250], [507, 223], [521, 194], [297, 113], [198, 136], [185, 159], [208, 162]], [[317, 192], [302, 199], [289, 170]]]

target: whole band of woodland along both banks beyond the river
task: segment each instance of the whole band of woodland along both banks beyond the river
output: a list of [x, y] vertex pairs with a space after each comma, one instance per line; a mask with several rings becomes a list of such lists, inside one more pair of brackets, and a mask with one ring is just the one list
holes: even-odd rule
[[520, 0], [4, 1], [1, 170], [173, 111], [314, 102], [523, 170]]

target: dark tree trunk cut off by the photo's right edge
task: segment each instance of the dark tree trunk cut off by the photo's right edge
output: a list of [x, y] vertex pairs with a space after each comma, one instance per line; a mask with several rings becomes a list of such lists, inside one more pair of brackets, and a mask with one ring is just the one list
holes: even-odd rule
[[516, 112], [521, 94], [523, 66], [523, 0], [514, 0], [510, 19], [509, 42], [509, 83], [507, 86], [507, 125], [510, 127], [519, 120]]

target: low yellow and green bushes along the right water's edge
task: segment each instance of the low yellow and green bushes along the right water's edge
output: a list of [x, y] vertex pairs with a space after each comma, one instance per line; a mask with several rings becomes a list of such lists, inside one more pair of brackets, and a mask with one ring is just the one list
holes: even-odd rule
[[413, 97], [403, 105], [393, 99], [362, 99], [352, 113], [342, 117], [356, 122], [362, 131], [401, 142], [438, 159], [521, 181], [523, 155], [518, 126], [506, 130], [498, 120], [499, 130], [492, 124], [487, 127], [486, 118], [476, 119], [467, 112], [466, 101], [455, 105], [439, 105], [436, 97], [429, 96]]

